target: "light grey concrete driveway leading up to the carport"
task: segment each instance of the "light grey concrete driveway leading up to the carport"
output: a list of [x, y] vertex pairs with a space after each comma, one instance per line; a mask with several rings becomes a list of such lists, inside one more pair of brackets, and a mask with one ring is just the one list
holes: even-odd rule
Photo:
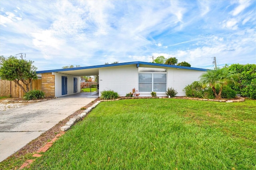
[[0, 162], [96, 97], [78, 93], [0, 111]]

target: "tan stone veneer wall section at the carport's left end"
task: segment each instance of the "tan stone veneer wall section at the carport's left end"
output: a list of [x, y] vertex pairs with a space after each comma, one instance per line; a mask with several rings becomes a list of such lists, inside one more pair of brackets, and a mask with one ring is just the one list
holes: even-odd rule
[[42, 73], [42, 91], [45, 97], [55, 97], [55, 75], [52, 73]]

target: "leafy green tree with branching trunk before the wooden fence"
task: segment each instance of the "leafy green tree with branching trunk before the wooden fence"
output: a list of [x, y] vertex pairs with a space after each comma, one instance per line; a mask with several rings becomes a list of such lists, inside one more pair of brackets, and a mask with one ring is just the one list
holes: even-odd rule
[[[0, 68], [1, 79], [14, 81], [25, 93], [32, 89], [32, 79], [37, 79], [37, 68], [32, 65], [34, 61], [18, 59], [12, 55], [8, 58], [1, 56], [0, 61], [2, 65]], [[20, 82], [24, 83], [26, 89]]]

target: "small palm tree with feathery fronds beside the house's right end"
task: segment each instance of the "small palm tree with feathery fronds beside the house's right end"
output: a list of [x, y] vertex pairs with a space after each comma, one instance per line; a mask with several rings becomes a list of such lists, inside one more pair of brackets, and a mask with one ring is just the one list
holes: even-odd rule
[[[228, 72], [228, 69], [222, 68], [217, 70], [209, 70], [203, 75], [200, 76], [201, 82], [204, 85], [209, 85], [214, 92], [215, 98], [221, 98], [221, 92], [224, 85], [227, 85], [229, 81], [233, 81], [233, 78], [237, 76], [236, 74], [232, 74]], [[216, 86], [220, 85], [220, 91], [217, 94]]]

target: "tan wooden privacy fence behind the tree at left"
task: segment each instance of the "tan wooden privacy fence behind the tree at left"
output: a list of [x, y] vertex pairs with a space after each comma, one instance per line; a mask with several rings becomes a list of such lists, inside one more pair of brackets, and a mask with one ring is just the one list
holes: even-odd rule
[[[32, 80], [32, 89], [41, 90], [41, 79]], [[20, 82], [22, 85], [23, 83]], [[25, 85], [23, 85], [25, 87]], [[26, 89], [26, 87], [25, 87]], [[0, 79], [0, 97], [22, 98], [24, 91], [14, 81]]]

